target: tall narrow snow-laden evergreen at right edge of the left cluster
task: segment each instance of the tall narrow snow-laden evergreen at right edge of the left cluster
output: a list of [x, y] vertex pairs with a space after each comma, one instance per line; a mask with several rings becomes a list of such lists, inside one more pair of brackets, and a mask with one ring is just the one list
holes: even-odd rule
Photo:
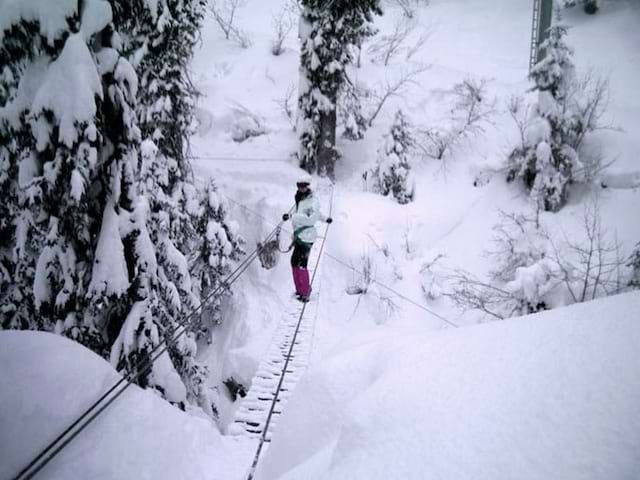
[[[217, 284], [228, 273], [226, 268], [210, 264], [209, 256], [199, 248], [202, 212], [209, 211], [208, 190], [203, 194], [197, 192], [187, 158], [196, 93], [187, 67], [198, 40], [206, 2], [165, 0], [132, 5], [133, 8], [129, 2], [123, 3], [119, 15], [130, 33], [125, 48], [140, 78], [137, 112], [144, 140], [139, 188], [148, 202], [149, 241], [157, 261], [157, 275], [149, 282], [149, 288], [155, 298], [152, 310], [156, 322], [173, 329], [204, 298], [203, 276], [211, 284]], [[218, 220], [225, 225], [223, 215]], [[240, 253], [238, 239], [232, 248], [225, 250], [225, 262], [236, 260]], [[222, 295], [212, 299], [206, 308], [216, 321], [221, 317], [221, 298]], [[208, 372], [195, 360], [194, 340], [195, 333], [188, 332], [171, 348], [170, 357], [187, 388], [187, 400], [212, 412], [204, 388]], [[140, 352], [133, 349], [128, 354], [144, 355], [145, 349], [143, 344]]]

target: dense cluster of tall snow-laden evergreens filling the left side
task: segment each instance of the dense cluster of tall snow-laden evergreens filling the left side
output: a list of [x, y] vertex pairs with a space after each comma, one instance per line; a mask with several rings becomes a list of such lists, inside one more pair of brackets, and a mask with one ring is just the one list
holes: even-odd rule
[[186, 64], [202, 8], [40, 0], [2, 17], [0, 182], [17, 195], [2, 225], [12, 288], [0, 312], [4, 328], [63, 333], [168, 400], [211, 412], [194, 334], [174, 341], [199, 302], [182, 252], [199, 211], [185, 182]]

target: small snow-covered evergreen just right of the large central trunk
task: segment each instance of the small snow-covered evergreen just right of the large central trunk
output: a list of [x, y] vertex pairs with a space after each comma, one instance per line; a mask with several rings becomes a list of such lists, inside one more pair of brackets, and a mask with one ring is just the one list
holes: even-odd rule
[[374, 188], [382, 195], [392, 194], [400, 204], [413, 200], [414, 185], [410, 177], [409, 153], [414, 145], [411, 126], [402, 110], [396, 112], [391, 129], [378, 150], [373, 178]]

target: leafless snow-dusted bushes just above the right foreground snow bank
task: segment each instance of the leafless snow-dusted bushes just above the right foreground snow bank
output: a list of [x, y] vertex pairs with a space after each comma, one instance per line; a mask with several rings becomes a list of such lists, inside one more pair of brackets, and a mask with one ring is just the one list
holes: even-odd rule
[[506, 318], [553, 307], [549, 302], [564, 292], [578, 303], [624, 288], [625, 259], [617, 239], [605, 234], [597, 200], [585, 207], [582, 239], [560, 230], [557, 242], [546, 230], [533, 230], [531, 217], [503, 213], [502, 218], [494, 227], [498, 248], [489, 252], [497, 265], [493, 281], [463, 270], [449, 277], [453, 289], [445, 295], [459, 307]]

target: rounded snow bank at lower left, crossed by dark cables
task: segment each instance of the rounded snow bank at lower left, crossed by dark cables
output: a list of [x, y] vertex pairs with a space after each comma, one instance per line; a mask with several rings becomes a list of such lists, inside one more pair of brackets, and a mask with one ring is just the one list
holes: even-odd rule
[[[119, 375], [61, 336], [0, 332], [0, 478], [12, 478]], [[208, 421], [129, 387], [41, 472], [41, 478], [228, 478]]]

